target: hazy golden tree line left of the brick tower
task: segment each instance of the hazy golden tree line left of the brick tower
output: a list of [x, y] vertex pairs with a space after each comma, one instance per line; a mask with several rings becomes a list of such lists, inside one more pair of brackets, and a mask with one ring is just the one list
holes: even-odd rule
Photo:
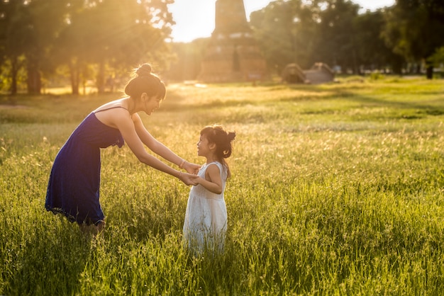
[[40, 93], [57, 72], [72, 93], [89, 79], [99, 92], [107, 76], [154, 60], [168, 67], [173, 0], [1, 0], [1, 87]]

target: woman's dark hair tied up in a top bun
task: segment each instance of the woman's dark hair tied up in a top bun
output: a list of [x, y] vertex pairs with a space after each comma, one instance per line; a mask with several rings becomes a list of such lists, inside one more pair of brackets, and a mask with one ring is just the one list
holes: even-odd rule
[[163, 100], [167, 90], [160, 78], [151, 73], [150, 64], [143, 64], [134, 69], [133, 79], [126, 84], [125, 93], [132, 98], [140, 98], [142, 93], [147, 93], [148, 96], [157, 96]]

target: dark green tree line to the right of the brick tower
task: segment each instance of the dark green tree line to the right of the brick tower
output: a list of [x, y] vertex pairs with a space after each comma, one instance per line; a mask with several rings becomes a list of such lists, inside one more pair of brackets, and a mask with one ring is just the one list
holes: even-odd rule
[[435, 55], [444, 46], [443, 1], [396, 0], [374, 12], [359, 10], [345, 0], [281, 0], [250, 19], [267, 61], [278, 68], [325, 62], [354, 74], [374, 69], [401, 74], [425, 65], [432, 77]]

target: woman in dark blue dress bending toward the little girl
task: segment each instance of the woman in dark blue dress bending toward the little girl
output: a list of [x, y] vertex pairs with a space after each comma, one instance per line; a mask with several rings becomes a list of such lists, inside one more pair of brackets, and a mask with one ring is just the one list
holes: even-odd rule
[[[195, 185], [200, 166], [191, 164], [155, 140], [143, 126], [140, 111], [150, 115], [165, 98], [165, 84], [151, 73], [149, 64], [135, 70], [135, 77], [125, 87], [128, 97], [100, 106], [72, 132], [57, 154], [52, 166], [46, 194], [46, 210], [62, 213], [70, 222], [77, 222], [86, 231], [99, 233], [105, 225], [99, 204], [100, 149], [124, 142], [140, 162]], [[148, 154], [145, 144], [167, 161], [188, 173], [177, 171]]]

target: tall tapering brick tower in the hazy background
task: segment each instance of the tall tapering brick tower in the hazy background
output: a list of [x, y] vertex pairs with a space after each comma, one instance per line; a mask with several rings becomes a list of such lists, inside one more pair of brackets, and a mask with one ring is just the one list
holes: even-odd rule
[[204, 52], [199, 81], [265, 79], [267, 65], [252, 37], [243, 0], [217, 0], [216, 25]]

